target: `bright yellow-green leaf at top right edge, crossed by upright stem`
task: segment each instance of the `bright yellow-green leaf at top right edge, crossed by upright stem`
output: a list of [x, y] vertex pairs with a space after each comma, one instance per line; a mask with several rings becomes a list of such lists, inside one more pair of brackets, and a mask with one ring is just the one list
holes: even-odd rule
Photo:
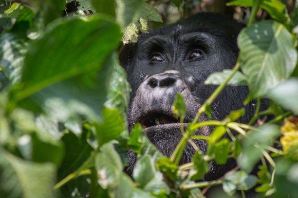
[[[253, 0], [234, 0], [226, 3], [226, 5], [240, 5], [252, 7], [254, 5]], [[272, 18], [279, 20], [281, 23], [285, 23], [289, 17], [285, 4], [279, 0], [262, 0], [260, 7], [266, 10]]]

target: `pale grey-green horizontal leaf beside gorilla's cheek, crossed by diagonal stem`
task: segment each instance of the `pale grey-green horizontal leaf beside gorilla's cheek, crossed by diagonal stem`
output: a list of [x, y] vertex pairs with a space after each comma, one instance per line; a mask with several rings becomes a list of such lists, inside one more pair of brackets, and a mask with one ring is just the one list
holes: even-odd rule
[[[224, 69], [223, 72], [214, 72], [206, 80], [205, 84], [219, 85], [231, 74], [231, 69]], [[240, 71], [237, 71], [233, 77], [228, 81], [227, 85], [230, 86], [246, 86], [247, 78]]]

